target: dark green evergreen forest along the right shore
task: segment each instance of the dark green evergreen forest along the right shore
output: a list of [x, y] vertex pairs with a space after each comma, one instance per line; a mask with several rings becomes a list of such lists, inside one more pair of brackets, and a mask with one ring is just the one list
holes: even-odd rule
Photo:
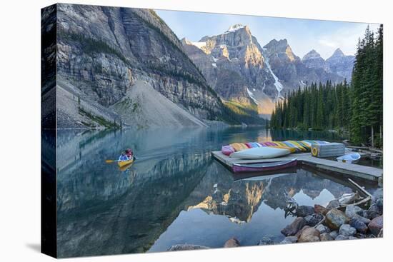
[[383, 26], [359, 39], [352, 82], [311, 84], [276, 104], [272, 128], [338, 129], [352, 143], [382, 147]]

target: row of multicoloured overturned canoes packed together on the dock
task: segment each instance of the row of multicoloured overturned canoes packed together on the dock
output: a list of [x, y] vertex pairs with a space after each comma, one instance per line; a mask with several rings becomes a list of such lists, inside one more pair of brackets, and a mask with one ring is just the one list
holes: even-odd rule
[[288, 140], [288, 141], [231, 143], [227, 146], [222, 146], [221, 151], [222, 151], [222, 153], [224, 153], [224, 155], [229, 156], [234, 152], [246, 150], [249, 148], [272, 147], [272, 148], [287, 149], [291, 153], [296, 153], [296, 152], [311, 151], [313, 143], [324, 144], [324, 143], [329, 143], [329, 142], [319, 141], [319, 140], [302, 140], [302, 141]]

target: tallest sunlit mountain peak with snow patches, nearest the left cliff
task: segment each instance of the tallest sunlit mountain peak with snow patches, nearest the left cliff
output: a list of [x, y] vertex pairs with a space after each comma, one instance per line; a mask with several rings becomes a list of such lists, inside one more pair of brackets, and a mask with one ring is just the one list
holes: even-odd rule
[[223, 34], [204, 36], [197, 42], [182, 39], [182, 43], [186, 54], [225, 101], [263, 113], [269, 111], [264, 108], [265, 101], [279, 97], [282, 85], [248, 26], [236, 24]]

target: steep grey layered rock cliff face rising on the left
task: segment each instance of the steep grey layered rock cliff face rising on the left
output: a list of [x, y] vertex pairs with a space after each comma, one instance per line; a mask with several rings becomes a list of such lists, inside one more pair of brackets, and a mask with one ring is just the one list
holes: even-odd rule
[[119, 123], [121, 115], [135, 114], [137, 104], [121, 112], [114, 105], [141, 82], [199, 119], [222, 116], [219, 97], [154, 11], [73, 4], [57, 4], [57, 10], [57, 76], [68, 86], [58, 99], [83, 107], [76, 114], [64, 103], [58, 112], [62, 127], [94, 124], [91, 116]]

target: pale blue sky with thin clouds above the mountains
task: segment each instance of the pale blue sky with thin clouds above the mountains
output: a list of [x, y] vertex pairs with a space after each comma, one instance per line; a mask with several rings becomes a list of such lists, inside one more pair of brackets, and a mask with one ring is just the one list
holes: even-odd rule
[[315, 49], [324, 59], [341, 49], [354, 55], [359, 37], [364, 36], [367, 25], [377, 32], [379, 24], [311, 19], [287, 19], [267, 16], [241, 16], [189, 11], [155, 10], [179, 39], [199, 41], [202, 36], [222, 34], [234, 24], [249, 26], [261, 46], [272, 39], [287, 39], [294, 54], [302, 58]]

